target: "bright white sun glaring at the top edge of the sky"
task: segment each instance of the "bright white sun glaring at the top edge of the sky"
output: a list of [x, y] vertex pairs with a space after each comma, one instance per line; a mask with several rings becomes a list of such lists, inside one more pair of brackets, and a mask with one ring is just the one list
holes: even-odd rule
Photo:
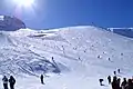
[[34, 0], [13, 0], [19, 7], [31, 7], [34, 3]]

